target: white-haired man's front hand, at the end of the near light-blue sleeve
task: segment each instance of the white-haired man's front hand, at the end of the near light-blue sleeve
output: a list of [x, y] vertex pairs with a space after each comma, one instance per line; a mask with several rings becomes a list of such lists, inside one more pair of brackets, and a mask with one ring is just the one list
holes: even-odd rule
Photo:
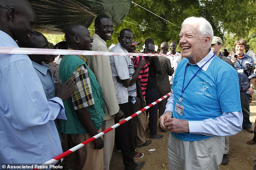
[[164, 126], [173, 133], [189, 133], [189, 122], [176, 118], [168, 118], [164, 121]]

